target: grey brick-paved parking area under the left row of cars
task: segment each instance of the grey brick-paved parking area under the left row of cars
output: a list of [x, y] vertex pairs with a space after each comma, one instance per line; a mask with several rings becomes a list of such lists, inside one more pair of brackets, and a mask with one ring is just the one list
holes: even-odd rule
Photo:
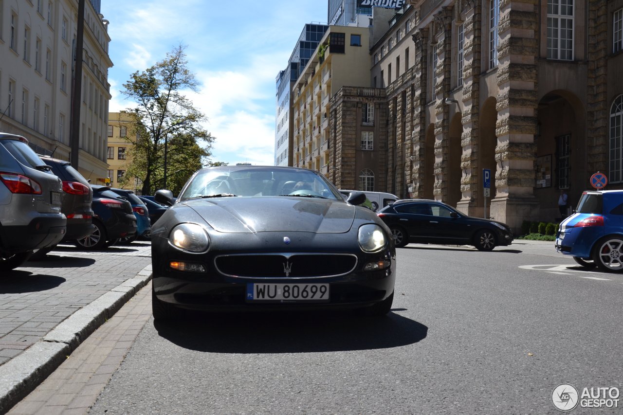
[[60, 246], [0, 277], [0, 366], [151, 264], [149, 242], [97, 252]]

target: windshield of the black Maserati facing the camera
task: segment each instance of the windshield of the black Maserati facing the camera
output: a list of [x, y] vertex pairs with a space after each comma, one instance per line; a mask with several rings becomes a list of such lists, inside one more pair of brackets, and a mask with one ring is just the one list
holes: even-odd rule
[[197, 171], [178, 200], [225, 196], [301, 196], [343, 200], [321, 174], [307, 169], [231, 166]]

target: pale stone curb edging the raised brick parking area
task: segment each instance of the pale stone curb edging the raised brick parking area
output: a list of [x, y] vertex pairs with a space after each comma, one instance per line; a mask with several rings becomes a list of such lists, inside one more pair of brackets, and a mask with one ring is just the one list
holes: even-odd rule
[[151, 280], [151, 265], [80, 308], [41, 340], [0, 366], [0, 414], [24, 399], [91, 333]]

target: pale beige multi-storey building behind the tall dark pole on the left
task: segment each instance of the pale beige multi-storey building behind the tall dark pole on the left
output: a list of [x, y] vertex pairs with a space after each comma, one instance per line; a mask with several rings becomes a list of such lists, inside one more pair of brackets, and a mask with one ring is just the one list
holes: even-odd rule
[[[97, 9], [96, 9], [97, 7]], [[70, 160], [76, 0], [0, 0], [0, 131], [40, 154]], [[85, 4], [78, 171], [103, 183], [110, 85], [108, 21]]]

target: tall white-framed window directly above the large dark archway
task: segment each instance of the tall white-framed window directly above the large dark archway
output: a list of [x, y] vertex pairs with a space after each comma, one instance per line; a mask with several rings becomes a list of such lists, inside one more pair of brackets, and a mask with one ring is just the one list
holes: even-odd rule
[[547, 2], [547, 57], [573, 60], [573, 0]]

